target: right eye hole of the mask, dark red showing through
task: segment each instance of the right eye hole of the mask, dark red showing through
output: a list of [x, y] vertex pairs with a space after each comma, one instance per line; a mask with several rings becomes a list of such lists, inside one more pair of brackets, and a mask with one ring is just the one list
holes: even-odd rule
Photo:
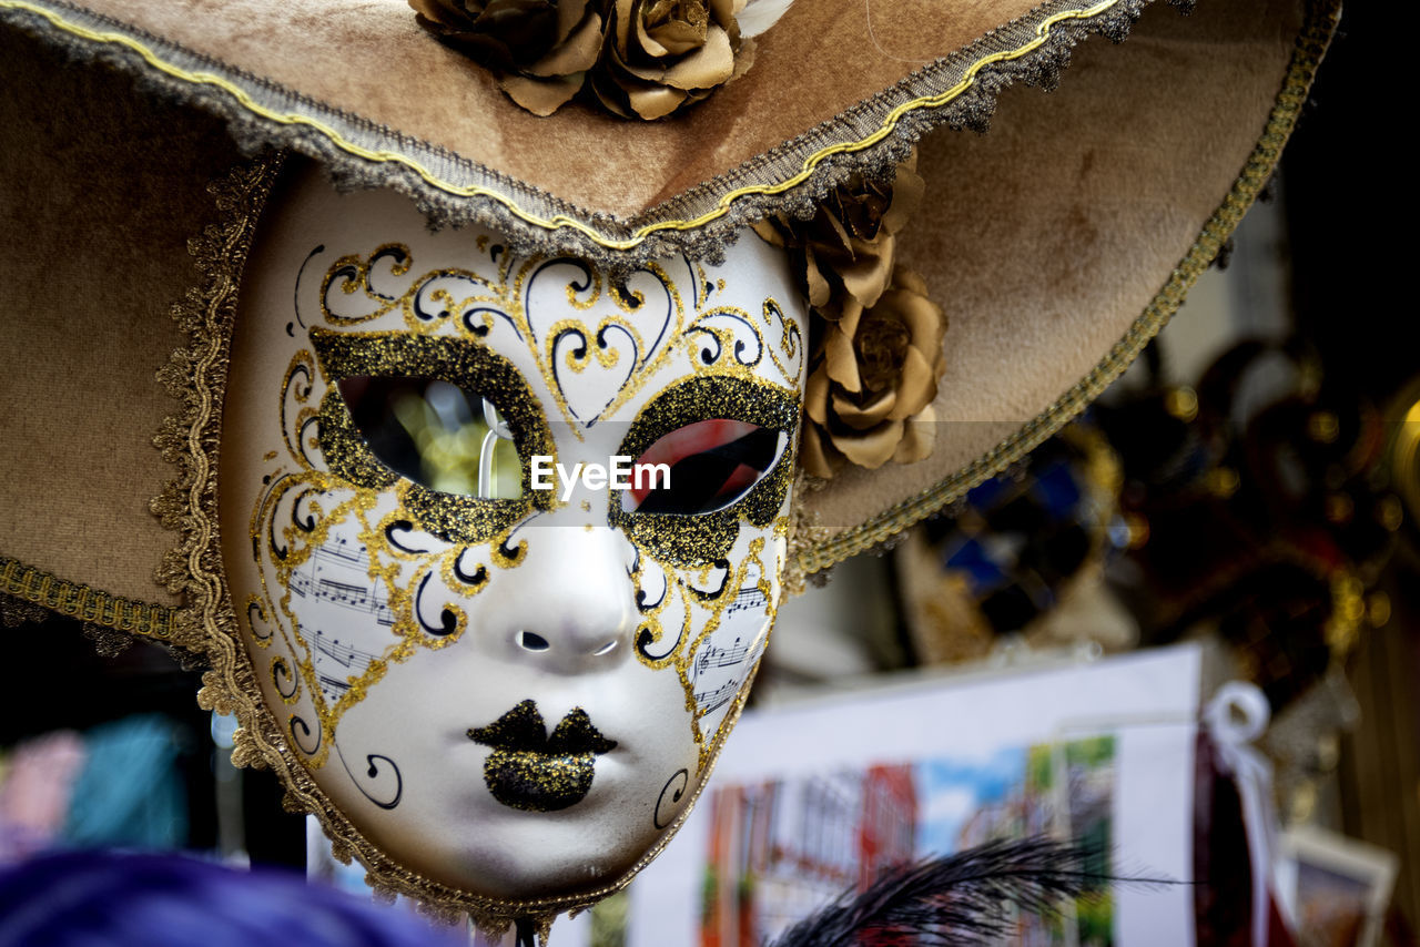
[[711, 417], [662, 434], [635, 466], [669, 467], [669, 477], [633, 481], [628, 513], [716, 513], [747, 494], [774, 467], [784, 434], [744, 420]]

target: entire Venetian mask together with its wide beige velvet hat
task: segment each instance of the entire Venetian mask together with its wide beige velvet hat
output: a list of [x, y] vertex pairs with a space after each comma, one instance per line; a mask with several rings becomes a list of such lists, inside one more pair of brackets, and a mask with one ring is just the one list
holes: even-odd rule
[[1125, 371], [1336, 17], [189, 6], [0, 0], [0, 618], [204, 663], [376, 890], [524, 931], [676, 831], [784, 589]]

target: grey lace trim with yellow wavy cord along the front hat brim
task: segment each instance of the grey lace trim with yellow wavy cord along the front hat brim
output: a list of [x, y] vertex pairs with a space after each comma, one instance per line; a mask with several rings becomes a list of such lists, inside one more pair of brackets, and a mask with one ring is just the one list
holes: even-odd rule
[[[65, 0], [48, 0], [47, 4], [0, 0], [0, 13], [23, 13], [43, 21], [58, 31], [61, 40], [68, 40], [65, 45], [71, 50], [97, 53], [129, 68], [135, 60], [142, 62], [151, 70], [149, 78], [156, 74], [179, 97], [224, 115], [234, 125], [244, 121], [246, 126], [233, 128], [241, 141], [297, 149], [332, 166], [344, 159], [342, 170], [349, 180], [420, 197], [449, 223], [481, 223], [504, 230], [518, 251], [577, 253], [613, 266], [623, 254], [630, 264], [680, 251], [717, 258], [741, 227], [775, 210], [795, 212], [816, 202], [845, 173], [882, 172], [937, 125], [984, 126], [1000, 92], [1000, 88], [987, 88], [991, 85], [985, 82], [988, 77], [1004, 78], [1004, 84], [997, 82], [1003, 87], [1018, 78], [1048, 80], [1083, 35], [1105, 33], [1122, 38], [1140, 10], [1153, 1], [1096, 0], [1082, 7], [1079, 0], [1045, 0], [1031, 13], [917, 70], [818, 128], [629, 220], [572, 206], [443, 148], [244, 75]], [[207, 68], [241, 77], [253, 89], [268, 95], [271, 104], [257, 101], [248, 89]], [[301, 105], [312, 114], [285, 111], [283, 105]], [[960, 109], [953, 111], [957, 106]], [[253, 126], [253, 116], [285, 133], [261, 133]], [[312, 141], [312, 135], [318, 141]], [[392, 148], [379, 148], [379, 143]], [[795, 158], [808, 149], [812, 150], [807, 156]], [[413, 156], [417, 152], [423, 153]], [[352, 169], [352, 165], [359, 168]], [[480, 183], [459, 183], [456, 177]], [[733, 186], [746, 179], [751, 183]]]

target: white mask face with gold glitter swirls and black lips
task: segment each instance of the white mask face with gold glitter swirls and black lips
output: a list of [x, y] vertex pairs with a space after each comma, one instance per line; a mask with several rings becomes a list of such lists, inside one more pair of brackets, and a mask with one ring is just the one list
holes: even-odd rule
[[266, 707], [403, 869], [501, 902], [622, 883], [780, 599], [807, 342], [785, 258], [746, 234], [616, 285], [390, 193], [307, 175], [273, 200], [220, 481]]

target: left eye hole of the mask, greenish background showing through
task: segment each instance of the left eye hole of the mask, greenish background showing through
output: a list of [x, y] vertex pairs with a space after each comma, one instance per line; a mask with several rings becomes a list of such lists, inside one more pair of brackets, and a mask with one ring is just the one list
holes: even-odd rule
[[356, 375], [338, 386], [365, 444], [399, 476], [440, 493], [523, 496], [513, 432], [488, 399], [435, 378]]

